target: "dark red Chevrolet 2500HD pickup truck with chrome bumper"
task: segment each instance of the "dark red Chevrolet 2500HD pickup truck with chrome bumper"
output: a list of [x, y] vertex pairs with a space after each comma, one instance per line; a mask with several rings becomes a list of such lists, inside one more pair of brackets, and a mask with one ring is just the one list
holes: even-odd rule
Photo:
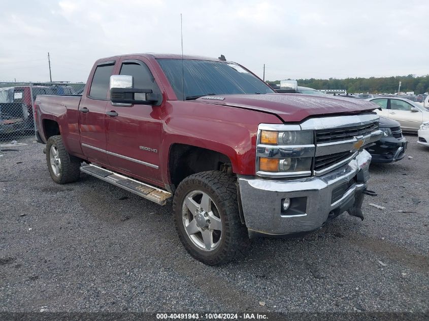
[[83, 171], [172, 201], [181, 242], [210, 265], [256, 236], [309, 232], [344, 211], [363, 219], [375, 108], [276, 93], [235, 62], [165, 54], [97, 60], [82, 95], [35, 102], [54, 182]]

